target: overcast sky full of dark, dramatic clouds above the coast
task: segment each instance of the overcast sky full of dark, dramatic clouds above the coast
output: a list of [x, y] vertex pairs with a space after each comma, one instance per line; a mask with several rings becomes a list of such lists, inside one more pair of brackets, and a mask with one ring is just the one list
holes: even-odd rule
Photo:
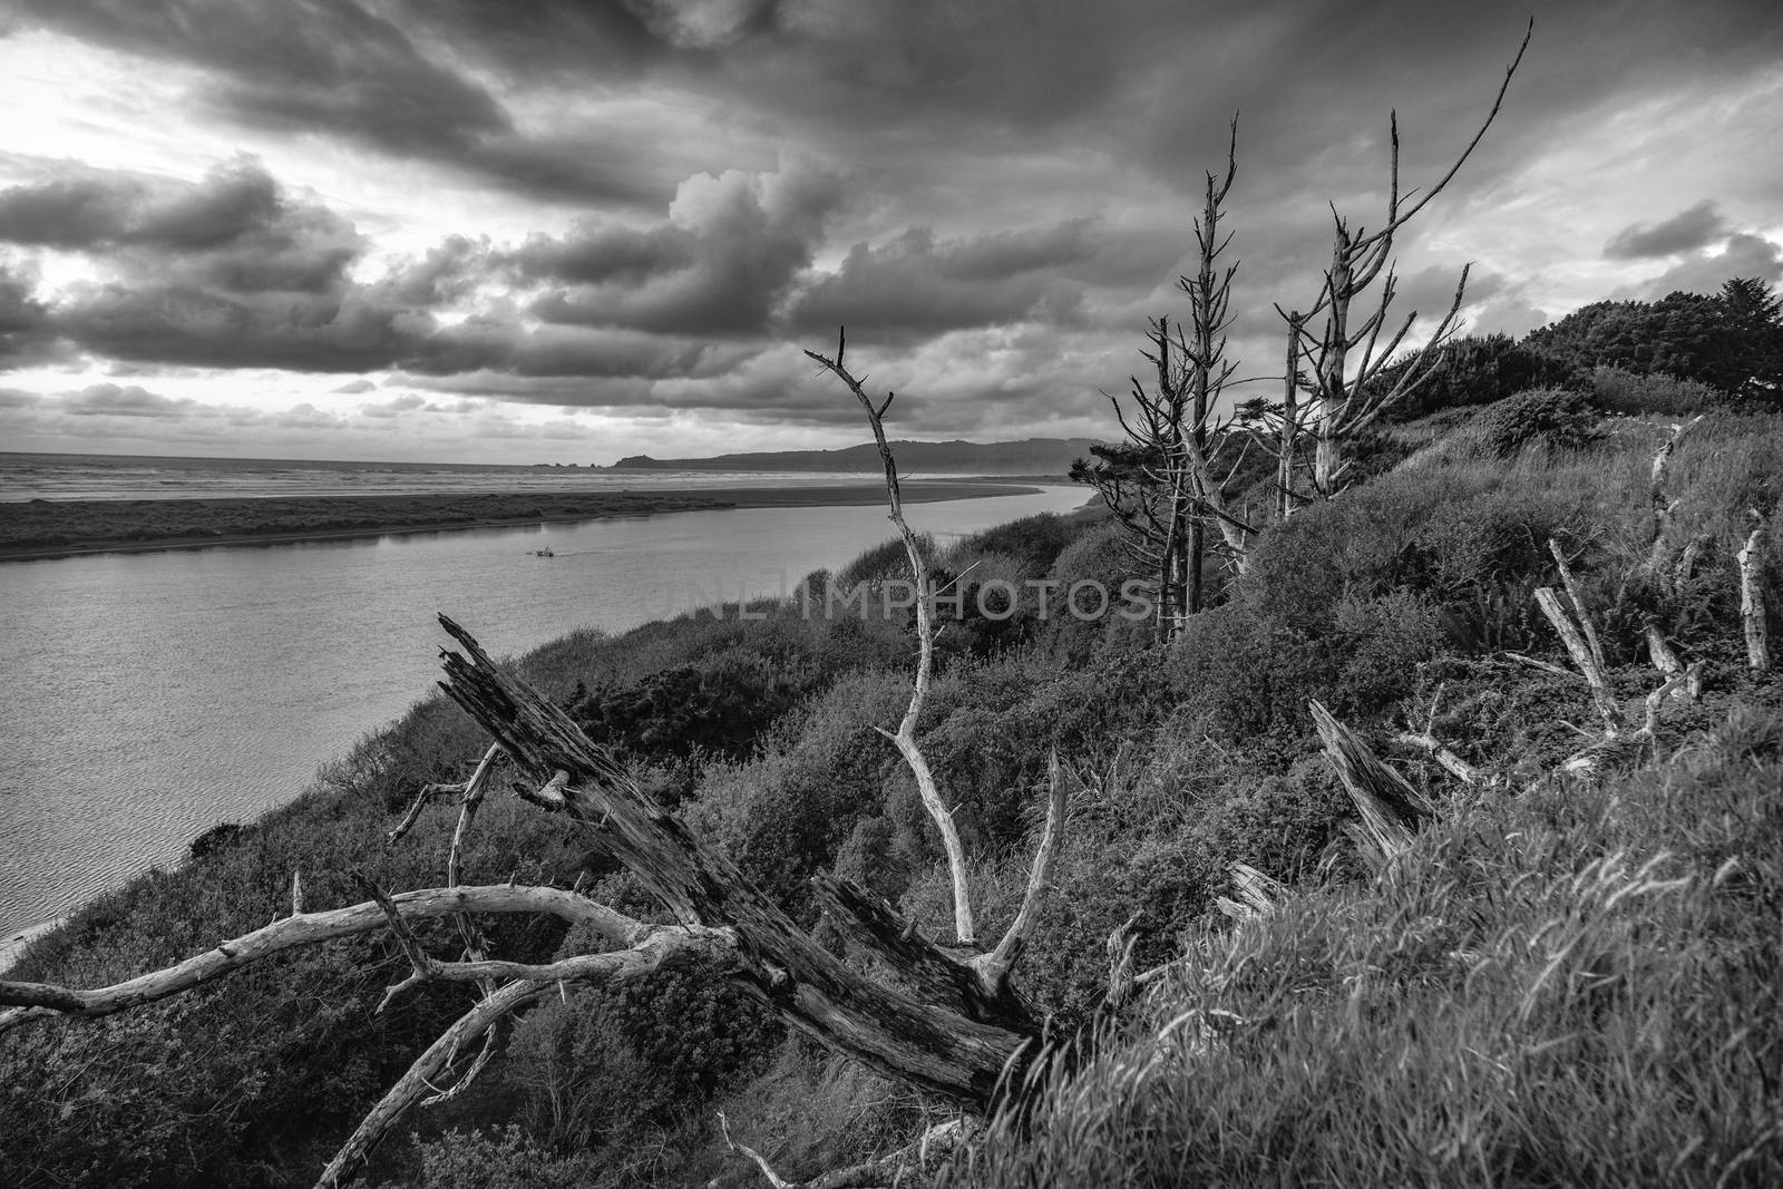
[[1430, 185], [1530, 9], [1394, 310], [1783, 280], [1778, 0], [0, 0], [0, 449], [838, 447], [838, 324], [893, 437], [1114, 439], [1234, 116], [1275, 390], [1391, 112]]

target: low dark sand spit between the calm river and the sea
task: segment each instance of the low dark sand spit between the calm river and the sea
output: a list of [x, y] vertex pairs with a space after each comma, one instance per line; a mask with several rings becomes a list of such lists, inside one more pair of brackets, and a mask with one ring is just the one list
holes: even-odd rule
[[[1063, 481], [1063, 480], [1061, 480]], [[1031, 496], [1002, 478], [908, 480], [908, 503]], [[884, 501], [877, 476], [849, 487], [729, 487], [622, 492], [480, 492], [223, 499], [0, 503], [0, 562], [219, 545], [283, 545], [401, 533], [572, 524], [724, 508], [856, 506]]]

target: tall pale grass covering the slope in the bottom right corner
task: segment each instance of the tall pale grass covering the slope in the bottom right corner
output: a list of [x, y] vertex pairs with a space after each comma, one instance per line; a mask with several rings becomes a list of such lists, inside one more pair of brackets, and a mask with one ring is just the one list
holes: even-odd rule
[[1193, 959], [956, 1185], [1783, 1184], [1783, 715], [1457, 804]]

